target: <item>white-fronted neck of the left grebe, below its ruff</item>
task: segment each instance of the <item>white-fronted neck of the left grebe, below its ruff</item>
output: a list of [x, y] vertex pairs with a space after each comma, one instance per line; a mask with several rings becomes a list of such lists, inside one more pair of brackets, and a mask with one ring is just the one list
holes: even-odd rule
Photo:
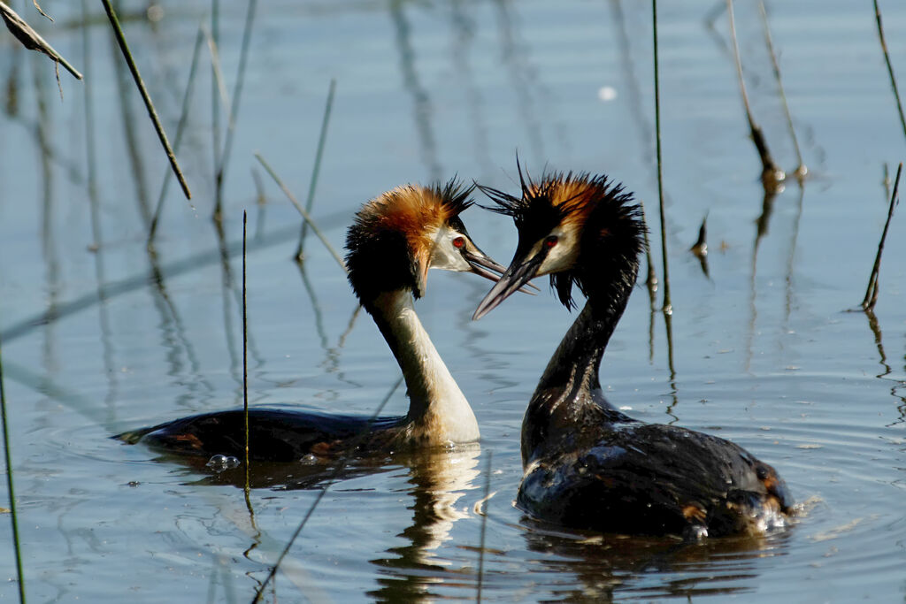
[[472, 407], [422, 327], [412, 294], [405, 290], [381, 293], [370, 310], [406, 379], [410, 439], [429, 445], [477, 440]]

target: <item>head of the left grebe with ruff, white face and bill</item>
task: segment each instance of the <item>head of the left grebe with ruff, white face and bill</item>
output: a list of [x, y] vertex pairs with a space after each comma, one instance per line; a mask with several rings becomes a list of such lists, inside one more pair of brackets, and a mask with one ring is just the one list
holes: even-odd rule
[[[482, 252], [459, 219], [474, 186], [404, 185], [361, 207], [346, 235], [349, 281], [361, 302], [381, 292], [425, 293], [429, 268], [471, 272], [492, 281], [504, 267]], [[488, 271], [487, 269], [490, 269]]]

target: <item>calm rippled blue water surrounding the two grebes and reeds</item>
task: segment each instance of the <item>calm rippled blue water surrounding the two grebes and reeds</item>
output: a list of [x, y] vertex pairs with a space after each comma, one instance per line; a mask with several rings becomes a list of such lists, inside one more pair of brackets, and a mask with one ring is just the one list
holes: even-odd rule
[[[338, 248], [352, 212], [403, 182], [458, 173], [515, 190], [517, 150], [533, 174], [547, 167], [621, 180], [660, 235], [646, 3], [261, 3], [226, 172], [226, 263], [208, 220], [209, 56], [178, 152], [194, 198], [188, 204], [170, 184], [152, 260], [142, 207], [157, 203], [167, 165], [130, 81], [118, 83], [120, 55], [100, 5], [90, 3], [85, 27], [77, 3], [43, 2], [55, 24], [18, 4], [87, 76], [81, 83], [62, 73], [61, 101], [53, 65], [0, 37], [0, 337], [34, 601], [250, 601], [320, 493], [255, 489], [252, 516], [242, 490], [211, 484], [206, 470], [107, 438], [241, 404], [244, 209], [252, 404], [370, 414], [397, 379], [367, 315], [350, 327], [352, 292], [323, 246], [308, 241], [304, 273], [289, 260], [299, 218], [253, 155], [304, 200], [332, 78], [314, 216]], [[228, 4], [220, 60], [232, 91], [246, 6]], [[435, 272], [419, 316], [476, 410], [481, 444], [333, 484], [271, 601], [474, 599], [484, 522], [487, 600], [903, 599], [902, 216], [885, 248], [876, 322], [846, 312], [863, 298], [886, 216], [883, 167], [892, 177], [906, 155], [872, 6], [768, 5], [810, 178], [765, 199], [721, 3], [661, 4], [673, 369], [663, 317], [651, 314], [640, 287], [602, 383], [634, 417], [731, 438], [775, 465], [802, 504], [798, 522], [761, 540], [677, 549], [527, 521], [512, 505], [522, 414], [572, 317], [543, 292], [472, 322], [487, 282]], [[164, 2], [154, 22], [146, 7], [124, 3], [121, 12], [172, 136], [209, 6]], [[881, 7], [894, 68], [906, 73], [906, 10]], [[776, 160], [792, 170], [756, 4], [738, 3], [737, 29], [752, 109]], [[687, 252], [706, 215], [708, 276]], [[479, 208], [463, 218], [506, 264], [512, 224]], [[660, 258], [657, 241], [652, 252]], [[388, 412], [405, 408], [396, 392]], [[265, 474], [277, 484], [298, 478], [293, 468]], [[7, 517], [0, 514], [3, 544]], [[9, 579], [0, 599], [12, 601], [12, 548], [0, 551], [0, 577]]]

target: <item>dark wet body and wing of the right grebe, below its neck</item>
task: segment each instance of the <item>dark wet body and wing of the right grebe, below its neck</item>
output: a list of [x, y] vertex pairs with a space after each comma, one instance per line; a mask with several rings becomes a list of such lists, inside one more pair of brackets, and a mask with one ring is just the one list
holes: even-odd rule
[[769, 465], [717, 436], [680, 427], [618, 427], [578, 453], [529, 468], [518, 503], [555, 523], [603, 532], [712, 536], [788, 510]]

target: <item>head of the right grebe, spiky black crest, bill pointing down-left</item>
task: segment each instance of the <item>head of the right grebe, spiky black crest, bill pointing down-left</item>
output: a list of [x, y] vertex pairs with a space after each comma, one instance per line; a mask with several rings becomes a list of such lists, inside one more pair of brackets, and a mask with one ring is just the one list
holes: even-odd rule
[[[533, 182], [519, 168], [522, 196], [490, 187], [491, 209], [512, 216], [516, 254], [500, 281], [478, 304], [480, 319], [534, 277], [550, 274], [560, 302], [572, 309], [573, 283], [586, 296], [608, 279], [635, 283], [646, 227], [632, 194], [608, 177], [556, 172]], [[609, 270], [608, 270], [609, 269]]]

